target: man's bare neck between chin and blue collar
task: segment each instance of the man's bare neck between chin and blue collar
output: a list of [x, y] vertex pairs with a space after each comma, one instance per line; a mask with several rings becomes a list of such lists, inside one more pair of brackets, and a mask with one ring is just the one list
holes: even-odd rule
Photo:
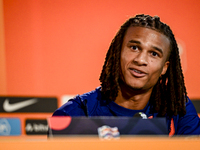
[[[122, 89], [122, 90], [121, 90]], [[132, 110], [144, 109], [151, 97], [152, 89], [147, 91], [122, 88], [118, 92], [115, 103]]]

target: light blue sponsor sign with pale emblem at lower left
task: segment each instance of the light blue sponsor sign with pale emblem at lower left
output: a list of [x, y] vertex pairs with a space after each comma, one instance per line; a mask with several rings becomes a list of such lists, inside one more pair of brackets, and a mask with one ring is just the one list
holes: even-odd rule
[[21, 123], [18, 118], [0, 118], [0, 136], [21, 135]]

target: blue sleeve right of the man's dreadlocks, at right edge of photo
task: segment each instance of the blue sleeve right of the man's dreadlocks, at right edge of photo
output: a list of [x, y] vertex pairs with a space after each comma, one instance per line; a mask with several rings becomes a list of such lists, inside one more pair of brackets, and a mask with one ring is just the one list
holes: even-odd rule
[[186, 103], [186, 115], [177, 117], [177, 135], [199, 135], [200, 134], [200, 118], [196, 112], [191, 100]]

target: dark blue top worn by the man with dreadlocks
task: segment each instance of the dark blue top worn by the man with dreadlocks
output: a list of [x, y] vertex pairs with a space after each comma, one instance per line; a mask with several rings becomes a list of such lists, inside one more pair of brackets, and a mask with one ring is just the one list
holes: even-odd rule
[[[149, 103], [142, 110], [131, 110], [117, 105], [113, 101], [101, 98], [100, 87], [94, 91], [77, 95], [63, 106], [58, 108], [53, 116], [127, 116], [133, 117], [136, 113], [143, 112], [147, 117], [156, 117], [157, 113], [150, 112]], [[171, 118], [166, 117], [170, 132]], [[186, 103], [186, 115], [183, 117], [173, 116], [175, 135], [199, 135], [200, 119], [191, 102]]]

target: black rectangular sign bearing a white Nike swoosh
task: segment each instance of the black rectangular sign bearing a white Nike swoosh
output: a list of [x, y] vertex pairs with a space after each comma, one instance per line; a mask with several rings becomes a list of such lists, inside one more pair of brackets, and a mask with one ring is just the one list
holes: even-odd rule
[[0, 97], [0, 112], [54, 112], [58, 108], [54, 97]]

